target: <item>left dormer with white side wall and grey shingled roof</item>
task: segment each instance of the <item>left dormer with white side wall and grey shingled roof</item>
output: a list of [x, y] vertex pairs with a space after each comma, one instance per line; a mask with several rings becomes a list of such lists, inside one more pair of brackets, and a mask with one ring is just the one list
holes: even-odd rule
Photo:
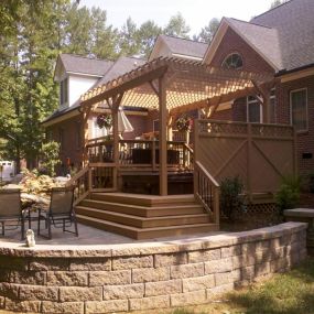
[[72, 107], [111, 67], [111, 61], [61, 54], [54, 80], [59, 83], [59, 108]]

